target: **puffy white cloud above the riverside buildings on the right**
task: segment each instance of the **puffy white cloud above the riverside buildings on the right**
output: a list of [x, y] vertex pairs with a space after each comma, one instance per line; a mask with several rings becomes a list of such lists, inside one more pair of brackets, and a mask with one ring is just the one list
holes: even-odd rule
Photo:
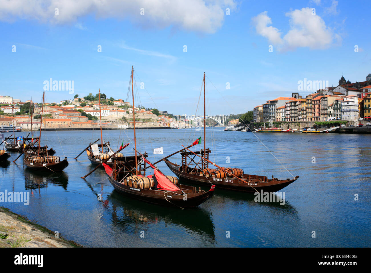
[[272, 26], [272, 20], [267, 12], [260, 13], [252, 18], [256, 32], [268, 38], [269, 42], [278, 46], [280, 51], [295, 50], [296, 48], [308, 47], [310, 49], [325, 49], [331, 46], [334, 39], [341, 40], [340, 36], [333, 33], [326, 26], [324, 20], [312, 14], [309, 7], [301, 10], [292, 10], [285, 14], [289, 17], [290, 30], [281, 38], [279, 30]]

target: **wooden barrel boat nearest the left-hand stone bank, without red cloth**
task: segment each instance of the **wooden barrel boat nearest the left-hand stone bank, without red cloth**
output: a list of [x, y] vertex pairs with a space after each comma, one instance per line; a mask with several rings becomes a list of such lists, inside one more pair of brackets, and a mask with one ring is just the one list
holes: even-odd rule
[[[23, 149], [24, 157], [23, 163], [26, 165], [26, 168], [37, 170], [40, 172], [60, 172], [64, 170], [68, 166], [67, 157], [60, 160], [59, 156], [53, 156], [48, 154], [47, 146], [43, 150], [43, 147], [40, 147], [40, 140], [41, 140], [41, 127], [42, 127], [42, 118], [43, 118], [43, 109], [44, 109], [44, 96], [45, 92], [43, 92], [43, 100], [42, 100], [42, 109], [41, 109], [41, 119], [40, 119], [40, 135], [38, 138], [38, 147], [30, 147], [29, 145], [25, 146]], [[31, 131], [32, 131], [32, 113], [31, 113]], [[35, 143], [32, 143], [33, 145]], [[34, 149], [37, 148], [37, 149]], [[14, 160], [15, 161], [15, 160]]]

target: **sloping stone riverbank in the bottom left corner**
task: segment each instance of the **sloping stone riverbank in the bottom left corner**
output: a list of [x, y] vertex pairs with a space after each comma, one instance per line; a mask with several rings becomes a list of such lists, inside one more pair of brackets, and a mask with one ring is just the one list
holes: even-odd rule
[[81, 247], [0, 207], [0, 247]]

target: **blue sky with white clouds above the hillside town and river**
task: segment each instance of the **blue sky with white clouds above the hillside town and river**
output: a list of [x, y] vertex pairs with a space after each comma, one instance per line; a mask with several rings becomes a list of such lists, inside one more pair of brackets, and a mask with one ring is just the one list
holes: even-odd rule
[[73, 80], [75, 93], [46, 91], [47, 102], [98, 88], [125, 99], [133, 65], [145, 107], [194, 114], [206, 72], [207, 112], [237, 114], [290, 96], [304, 78], [336, 86], [342, 74], [355, 82], [371, 73], [363, 1], [134, 2], [0, 0], [0, 94], [41, 101], [52, 78]]

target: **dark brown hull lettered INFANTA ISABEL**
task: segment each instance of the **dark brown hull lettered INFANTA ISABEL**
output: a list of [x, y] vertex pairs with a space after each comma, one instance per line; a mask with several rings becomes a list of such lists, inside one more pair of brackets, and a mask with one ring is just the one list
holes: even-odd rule
[[[285, 188], [286, 186], [290, 185], [299, 176], [296, 176], [293, 179], [286, 179], [286, 180], [279, 180], [279, 179], [266, 179], [265, 176], [257, 176], [257, 175], [243, 175], [242, 179], [246, 181], [243, 183], [240, 179], [237, 178], [212, 178], [212, 177], [205, 177], [199, 176], [196, 174], [190, 174], [186, 172], [182, 172], [180, 170], [179, 165], [175, 165], [174, 163], [170, 162], [168, 159], [164, 159], [166, 165], [170, 168], [170, 170], [178, 176], [178, 178], [184, 179], [188, 183], [196, 184], [196, 185], [210, 185], [213, 183], [216, 185], [217, 188], [221, 189], [228, 189], [232, 191], [242, 191], [242, 192], [256, 192], [263, 190], [264, 192], [277, 192], [280, 189]], [[260, 181], [256, 181], [260, 180]], [[249, 182], [250, 181], [250, 182]]]

